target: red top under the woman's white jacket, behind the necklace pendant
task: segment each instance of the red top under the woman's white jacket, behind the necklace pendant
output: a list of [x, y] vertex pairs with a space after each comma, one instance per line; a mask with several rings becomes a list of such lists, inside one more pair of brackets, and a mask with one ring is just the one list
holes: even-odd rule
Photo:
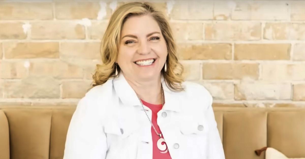
[[[148, 102], [145, 102], [141, 99], [143, 105], [147, 106], [149, 109], [152, 110], [152, 124], [155, 126], [156, 131], [160, 134], [161, 130], [157, 124], [157, 113], [162, 109], [162, 104], [150, 104]], [[164, 101], [165, 102], [165, 101]], [[147, 119], [148, 120], [148, 119]], [[152, 132], [152, 159], [171, 159], [170, 153], [167, 150], [167, 153], [163, 154], [161, 150], [157, 147], [157, 141], [160, 139], [160, 137], [156, 134], [155, 130], [151, 126], [151, 132]], [[163, 135], [162, 135], [163, 138]], [[165, 140], [166, 141], [166, 140]], [[166, 143], [162, 143], [166, 144]], [[165, 150], [166, 151], [166, 150]]]

